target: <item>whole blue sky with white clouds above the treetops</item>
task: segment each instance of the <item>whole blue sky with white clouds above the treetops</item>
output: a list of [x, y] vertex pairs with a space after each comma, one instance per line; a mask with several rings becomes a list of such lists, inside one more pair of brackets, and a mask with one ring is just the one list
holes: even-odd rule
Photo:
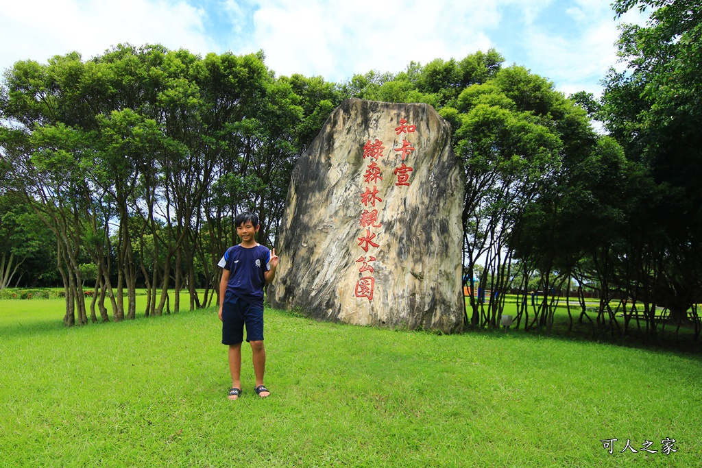
[[[610, 0], [24, 0], [0, 3], [0, 69], [160, 43], [205, 55], [263, 49], [278, 75], [345, 81], [371, 69], [497, 49], [566, 94], [600, 95], [617, 64]], [[638, 13], [624, 18], [642, 22]]]

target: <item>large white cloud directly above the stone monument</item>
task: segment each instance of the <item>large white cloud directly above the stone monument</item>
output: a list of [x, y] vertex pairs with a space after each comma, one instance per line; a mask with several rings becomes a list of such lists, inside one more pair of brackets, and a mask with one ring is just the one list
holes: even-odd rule
[[[263, 48], [278, 74], [320, 74], [331, 81], [371, 69], [399, 72], [412, 60], [463, 58], [491, 46], [494, 4], [479, 0], [261, 0], [255, 33], [244, 46]], [[239, 47], [241, 49], [241, 47]]]

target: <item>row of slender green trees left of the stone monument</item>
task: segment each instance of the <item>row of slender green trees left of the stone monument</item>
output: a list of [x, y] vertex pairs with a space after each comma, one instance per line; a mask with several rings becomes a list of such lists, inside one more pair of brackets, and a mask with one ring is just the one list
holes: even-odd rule
[[321, 79], [275, 79], [261, 54], [120, 45], [88, 61], [17, 62], [0, 95], [1, 187], [55, 237], [65, 323], [88, 321], [86, 254], [97, 266], [93, 320], [108, 319], [106, 302], [115, 320], [133, 318], [139, 277], [147, 315], [166, 307], [171, 278], [174, 310], [184, 286], [190, 308], [211, 302], [232, 213], [256, 210], [269, 239], [291, 166], [337, 94]]

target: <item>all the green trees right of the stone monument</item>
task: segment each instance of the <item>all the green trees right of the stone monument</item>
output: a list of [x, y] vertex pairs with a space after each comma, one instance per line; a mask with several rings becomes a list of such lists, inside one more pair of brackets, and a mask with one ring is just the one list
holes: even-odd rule
[[[469, 277], [474, 259], [486, 256], [482, 286], [522, 290], [517, 323], [524, 328], [550, 328], [559, 290], [577, 289], [578, 318], [593, 330], [628, 333], [635, 319], [648, 335], [670, 322], [700, 334], [702, 6], [614, 2], [616, 15], [631, 8], [651, 14], [647, 25], [621, 28], [626, 69], [611, 69], [601, 100], [571, 96], [607, 136], [593, 133], [545, 81], [510, 69], [465, 89], [457, 113], [443, 110], [461, 119]], [[531, 305], [534, 283], [542, 293]], [[594, 317], [584, 285], [599, 292]], [[495, 326], [504, 295], [497, 297], [487, 305], [473, 300], [471, 323]]]

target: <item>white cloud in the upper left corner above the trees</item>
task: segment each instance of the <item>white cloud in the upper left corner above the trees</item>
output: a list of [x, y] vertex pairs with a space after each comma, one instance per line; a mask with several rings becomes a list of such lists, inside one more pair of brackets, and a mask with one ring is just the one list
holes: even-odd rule
[[0, 67], [17, 60], [45, 62], [78, 51], [84, 59], [129, 42], [160, 43], [195, 53], [212, 50], [204, 11], [186, 1], [7, 1], [0, 6]]

